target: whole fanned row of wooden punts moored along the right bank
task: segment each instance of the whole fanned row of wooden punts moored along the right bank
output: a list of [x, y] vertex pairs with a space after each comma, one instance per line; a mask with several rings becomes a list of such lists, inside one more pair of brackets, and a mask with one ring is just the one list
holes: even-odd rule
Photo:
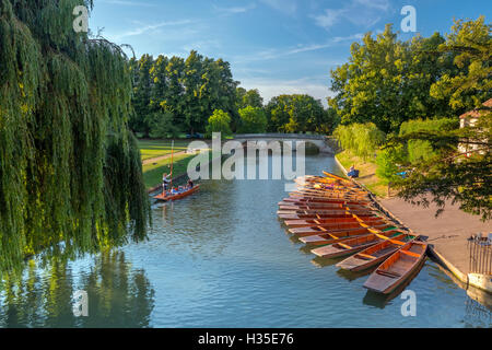
[[347, 257], [343, 270], [374, 269], [364, 287], [389, 294], [425, 258], [426, 243], [373, 207], [368, 192], [350, 179], [324, 176], [295, 179], [296, 190], [279, 202], [286, 230], [320, 258]]

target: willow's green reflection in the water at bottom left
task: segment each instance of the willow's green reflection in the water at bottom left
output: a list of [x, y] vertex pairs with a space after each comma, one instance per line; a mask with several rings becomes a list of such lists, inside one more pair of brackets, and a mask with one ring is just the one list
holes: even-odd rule
[[[28, 261], [22, 276], [0, 287], [0, 326], [148, 327], [154, 291], [144, 271], [132, 269], [117, 250], [85, 262], [52, 259], [40, 268]], [[87, 292], [87, 317], [73, 315], [77, 290]]]

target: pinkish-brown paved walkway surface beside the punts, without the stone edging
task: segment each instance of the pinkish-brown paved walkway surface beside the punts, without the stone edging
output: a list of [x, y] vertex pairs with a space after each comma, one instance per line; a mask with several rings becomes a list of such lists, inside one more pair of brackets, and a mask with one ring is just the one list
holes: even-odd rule
[[382, 205], [415, 233], [429, 236], [429, 244], [464, 273], [469, 273], [467, 238], [479, 232], [492, 232], [492, 221], [482, 222], [480, 217], [462, 212], [446, 202], [444, 212], [435, 218], [436, 207], [412, 206], [400, 198], [380, 200]]

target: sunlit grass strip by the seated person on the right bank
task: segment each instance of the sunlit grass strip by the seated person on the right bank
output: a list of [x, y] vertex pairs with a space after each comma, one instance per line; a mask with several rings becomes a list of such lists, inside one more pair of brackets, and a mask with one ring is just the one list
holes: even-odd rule
[[356, 180], [366, 186], [377, 197], [388, 197], [388, 186], [377, 177], [377, 165], [375, 163], [364, 161], [347, 150], [338, 153], [337, 159], [345, 170], [349, 170], [350, 166], [354, 165], [355, 168], [359, 170], [359, 178]]

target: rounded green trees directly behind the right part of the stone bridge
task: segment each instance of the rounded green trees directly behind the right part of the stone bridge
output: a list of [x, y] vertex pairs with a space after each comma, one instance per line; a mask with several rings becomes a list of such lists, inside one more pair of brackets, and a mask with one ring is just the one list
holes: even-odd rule
[[335, 115], [309, 95], [276, 96], [266, 110], [268, 130], [271, 132], [328, 133], [335, 125]]

